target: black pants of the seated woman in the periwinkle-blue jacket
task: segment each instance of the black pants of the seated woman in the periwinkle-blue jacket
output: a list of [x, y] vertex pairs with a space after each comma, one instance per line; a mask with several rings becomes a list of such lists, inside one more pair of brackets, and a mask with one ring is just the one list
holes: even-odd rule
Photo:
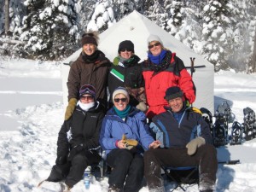
[[[136, 151], [115, 148], [107, 155], [108, 166], [113, 167], [109, 186], [124, 189], [124, 192], [137, 192], [143, 183], [143, 156]], [[125, 186], [124, 186], [125, 183]]]

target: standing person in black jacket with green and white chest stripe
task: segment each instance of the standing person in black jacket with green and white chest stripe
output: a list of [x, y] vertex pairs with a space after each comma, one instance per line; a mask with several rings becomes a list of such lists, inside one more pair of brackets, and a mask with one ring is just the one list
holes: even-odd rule
[[[147, 110], [144, 94], [144, 79], [142, 67], [138, 63], [141, 59], [134, 54], [134, 44], [130, 40], [119, 44], [118, 56], [113, 59], [108, 75], [108, 90], [110, 96], [118, 87], [125, 87], [130, 95], [131, 106], [145, 112]], [[113, 99], [109, 99], [108, 108], [113, 107]]]

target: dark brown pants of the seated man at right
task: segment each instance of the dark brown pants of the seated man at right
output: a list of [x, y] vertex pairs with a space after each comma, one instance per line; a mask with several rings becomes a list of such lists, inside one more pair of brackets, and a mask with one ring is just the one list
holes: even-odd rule
[[144, 175], [149, 191], [164, 191], [161, 166], [199, 166], [199, 189], [214, 189], [218, 160], [216, 149], [211, 144], [197, 148], [194, 155], [187, 148], [155, 148], [144, 153]]

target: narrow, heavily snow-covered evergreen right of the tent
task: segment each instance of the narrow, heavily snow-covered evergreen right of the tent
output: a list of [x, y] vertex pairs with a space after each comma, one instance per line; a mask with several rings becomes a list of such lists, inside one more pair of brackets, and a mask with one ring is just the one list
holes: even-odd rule
[[229, 14], [228, 0], [210, 0], [204, 7], [203, 38], [206, 44], [203, 49], [215, 71], [230, 68], [226, 60], [232, 43]]

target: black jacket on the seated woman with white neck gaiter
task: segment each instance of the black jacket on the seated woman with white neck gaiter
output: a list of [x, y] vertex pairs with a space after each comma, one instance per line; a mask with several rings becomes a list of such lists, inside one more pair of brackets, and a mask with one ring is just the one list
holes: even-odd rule
[[87, 112], [77, 106], [72, 117], [64, 121], [61, 126], [57, 142], [57, 156], [67, 156], [71, 148], [81, 143], [85, 150], [99, 147], [103, 117], [103, 107], [99, 103]]

